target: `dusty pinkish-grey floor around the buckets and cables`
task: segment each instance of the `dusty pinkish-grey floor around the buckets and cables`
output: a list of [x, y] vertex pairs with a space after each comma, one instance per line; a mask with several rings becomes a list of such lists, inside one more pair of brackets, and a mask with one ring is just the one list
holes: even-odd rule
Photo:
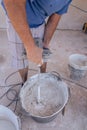
[[[56, 30], [51, 41], [50, 48], [53, 55], [48, 63], [47, 71], [59, 72], [64, 78], [70, 79], [68, 69], [69, 56], [73, 53], [87, 56], [87, 34], [81, 31], [83, 23], [87, 21], [87, 14], [70, 7], [70, 13], [66, 17], [64, 16], [60, 21], [58, 30]], [[0, 46], [0, 86], [5, 85], [5, 81], [7, 85], [21, 82], [18, 73], [6, 80], [8, 75], [16, 70], [10, 67], [10, 53], [5, 30], [0, 31], [0, 43], [2, 44]], [[29, 67], [36, 70], [30, 70], [29, 76], [38, 72], [35, 64], [30, 62]], [[71, 90], [71, 97], [66, 106], [65, 115], [62, 116], [62, 113], [59, 113], [56, 119], [46, 124], [37, 123], [31, 117], [23, 116], [21, 118], [22, 130], [87, 130], [87, 90], [83, 88], [87, 88], [87, 73], [80, 81], [73, 81], [83, 87], [68, 81], [65, 82]], [[0, 88], [0, 96], [7, 90], [8, 88]], [[9, 101], [4, 97], [0, 100], [0, 104], [8, 105]], [[19, 107], [20, 105], [18, 104], [17, 112], [19, 112]], [[15, 103], [9, 108], [14, 110]]]

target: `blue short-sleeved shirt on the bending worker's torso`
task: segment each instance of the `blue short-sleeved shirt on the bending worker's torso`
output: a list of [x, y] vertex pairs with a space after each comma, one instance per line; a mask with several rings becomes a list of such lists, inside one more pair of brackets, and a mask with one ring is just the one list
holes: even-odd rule
[[26, 15], [29, 26], [37, 27], [41, 25], [45, 22], [45, 18], [53, 13], [61, 15], [67, 12], [68, 5], [71, 1], [72, 0], [26, 0]]

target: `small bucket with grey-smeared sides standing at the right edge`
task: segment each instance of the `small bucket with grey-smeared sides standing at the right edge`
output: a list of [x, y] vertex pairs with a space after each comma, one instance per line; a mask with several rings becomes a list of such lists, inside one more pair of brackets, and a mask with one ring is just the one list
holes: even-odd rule
[[80, 80], [87, 71], [87, 56], [81, 54], [72, 54], [69, 56], [70, 78]]

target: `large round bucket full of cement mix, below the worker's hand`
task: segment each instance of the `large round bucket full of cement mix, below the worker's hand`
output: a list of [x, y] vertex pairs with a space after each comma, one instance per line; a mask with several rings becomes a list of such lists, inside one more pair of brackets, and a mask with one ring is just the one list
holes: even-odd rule
[[[37, 82], [38, 76], [39, 76], [39, 83], [41, 85], [41, 95], [40, 95], [41, 101], [44, 100], [43, 103], [44, 104], [45, 102], [47, 103], [45, 104], [43, 111], [37, 110], [37, 106], [34, 106], [34, 101], [37, 99], [37, 98], [35, 99], [35, 97], [37, 97], [36, 96], [37, 86], [39, 85]], [[46, 123], [56, 118], [58, 113], [64, 109], [66, 103], [68, 102], [69, 91], [68, 91], [67, 84], [62, 81], [59, 75], [55, 73], [41, 73], [30, 77], [26, 81], [24, 86], [21, 88], [19, 95], [20, 95], [21, 106], [25, 114], [27, 116], [31, 116], [33, 119], [35, 119], [38, 122]], [[26, 95], [28, 95], [28, 98], [26, 98]], [[31, 95], [34, 95], [34, 97], [32, 98]], [[26, 102], [29, 104], [27, 104]], [[48, 104], [51, 104], [52, 106], [48, 107]], [[28, 106], [30, 107], [31, 105], [32, 107], [28, 109]], [[48, 109], [50, 111], [48, 111]]]

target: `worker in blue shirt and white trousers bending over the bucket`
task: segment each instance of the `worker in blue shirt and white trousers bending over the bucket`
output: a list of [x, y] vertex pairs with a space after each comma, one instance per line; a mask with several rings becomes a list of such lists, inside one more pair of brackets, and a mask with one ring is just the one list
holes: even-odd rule
[[[49, 43], [71, 1], [2, 0], [12, 65], [18, 69], [24, 82], [28, 74], [28, 61], [42, 65], [43, 50], [51, 54]], [[41, 45], [36, 45], [38, 41]]]

